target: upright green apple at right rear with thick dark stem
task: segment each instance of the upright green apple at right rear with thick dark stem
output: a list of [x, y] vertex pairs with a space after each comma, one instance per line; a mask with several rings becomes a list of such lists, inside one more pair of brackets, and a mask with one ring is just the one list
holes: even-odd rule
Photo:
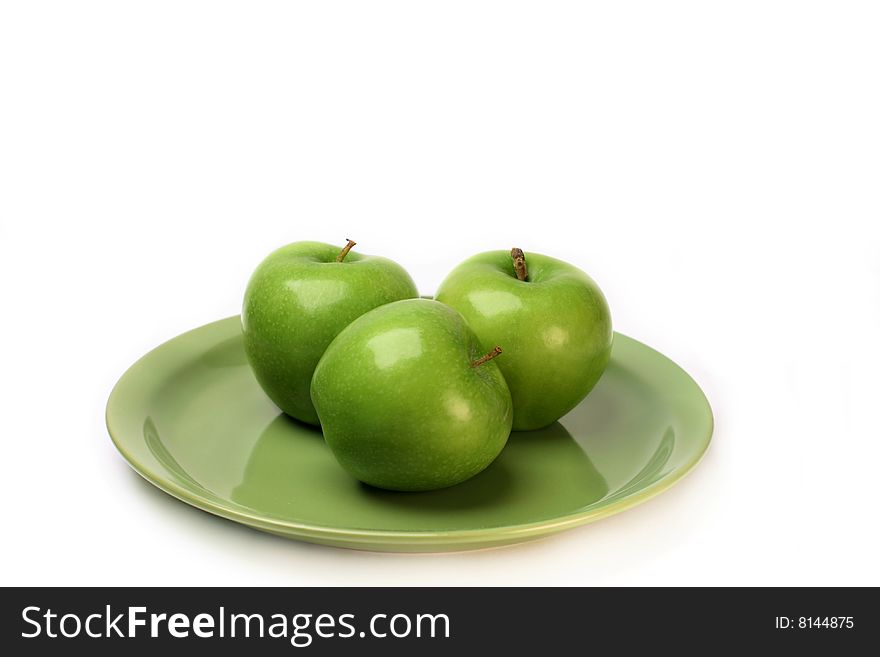
[[456, 267], [436, 299], [461, 313], [483, 347], [504, 346], [498, 367], [513, 397], [513, 429], [545, 427], [596, 385], [611, 357], [611, 314], [577, 267], [520, 249]]

